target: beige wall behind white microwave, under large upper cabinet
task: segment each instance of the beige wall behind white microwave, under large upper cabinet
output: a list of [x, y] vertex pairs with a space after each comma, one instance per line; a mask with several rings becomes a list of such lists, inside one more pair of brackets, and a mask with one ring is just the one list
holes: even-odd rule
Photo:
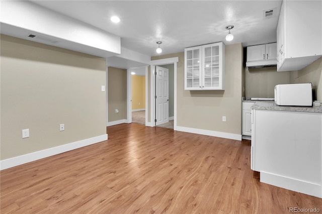
[[291, 72], [291, 83], [312, 82], [316, 100], [322, 101], [322, 57], [299, 71]]

